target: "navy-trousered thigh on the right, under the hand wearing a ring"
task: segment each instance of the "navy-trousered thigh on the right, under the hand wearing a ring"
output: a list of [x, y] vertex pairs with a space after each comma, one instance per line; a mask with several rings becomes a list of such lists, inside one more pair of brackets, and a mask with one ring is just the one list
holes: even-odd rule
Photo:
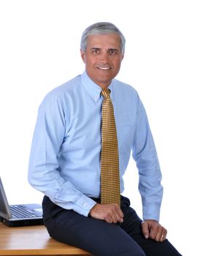
[[142, 234], [142, 219], [137, 216], [136, 211], [130, 206], [128, 198], [124, 198], [121, 208], [124, 214], [124, 222], [120, 227], [133, 238], [143, 249], [146, 256], [180, 256], [179, 252], [175, 249], [168, 240], [164, 242], [156, 242], [152, 239], [146, 239]]

